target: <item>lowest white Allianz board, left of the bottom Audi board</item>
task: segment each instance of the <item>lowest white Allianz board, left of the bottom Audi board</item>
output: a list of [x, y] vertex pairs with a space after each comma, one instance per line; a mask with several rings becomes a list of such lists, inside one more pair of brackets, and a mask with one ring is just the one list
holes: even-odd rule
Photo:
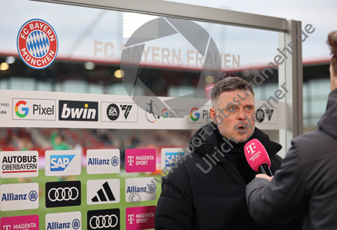
[[81, 212], [73, 211], [68, 213], [48, 213], [46, 214], [46, 230], [81, 229]]

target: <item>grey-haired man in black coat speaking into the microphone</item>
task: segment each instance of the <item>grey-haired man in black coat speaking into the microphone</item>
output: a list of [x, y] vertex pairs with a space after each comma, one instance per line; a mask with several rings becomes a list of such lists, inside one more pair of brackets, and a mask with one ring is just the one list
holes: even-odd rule
[[155, 229], [300, 229], [301, 223], [261, 227], [249, 215], [245, 189], [256, 172], [244, 157], [244, 144], [260, 140], [273, 173], [282, 160], [276, 155], [282, 146], [255, 127], [252, 88], [239, 77], [223, 79], [213, 88], [211, 102], [216, 124], [210, 122], [193, 135], [193, 153], [168, 173]]

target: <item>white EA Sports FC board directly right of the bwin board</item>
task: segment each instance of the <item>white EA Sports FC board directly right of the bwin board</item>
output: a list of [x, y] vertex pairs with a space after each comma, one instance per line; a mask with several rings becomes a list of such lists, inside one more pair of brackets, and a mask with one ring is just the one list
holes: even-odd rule
[[135, 103], [102, 102], [102, 122], [138, 122]]

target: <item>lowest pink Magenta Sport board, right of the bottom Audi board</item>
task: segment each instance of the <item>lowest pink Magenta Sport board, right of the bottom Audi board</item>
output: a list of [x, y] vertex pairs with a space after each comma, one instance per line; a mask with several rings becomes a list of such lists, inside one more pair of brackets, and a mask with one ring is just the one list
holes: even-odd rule
[[126, 208], [126, 230], [153, 229], [155, 206]]

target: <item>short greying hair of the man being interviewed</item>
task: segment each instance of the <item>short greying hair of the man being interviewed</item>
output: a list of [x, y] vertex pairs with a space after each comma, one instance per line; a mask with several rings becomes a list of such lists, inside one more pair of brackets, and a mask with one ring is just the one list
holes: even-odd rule
[[213, 108], [218, 108], [219, 96], [222, 92], [231, 92], [235, 90], [249, 90], [250, 93], [255, 97], [253, 88], [246, 80], [240, 77], [227, 77], [222, 79], [220, 82], [215, 84], [211, 92], [211, 103]]

